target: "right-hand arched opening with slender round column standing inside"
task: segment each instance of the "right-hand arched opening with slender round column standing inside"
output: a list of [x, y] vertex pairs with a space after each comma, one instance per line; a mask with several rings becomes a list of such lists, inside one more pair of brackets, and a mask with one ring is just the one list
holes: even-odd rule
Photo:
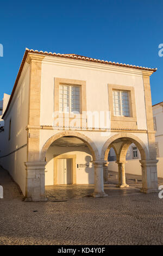
[[112, 171], [117, 173], [116, 183], [118, 187], [128, 187], [126, 173], [130, 185], [133, 185], [134, 182], [137, 184], [141, 175], [142, 189], [147, 186], [147, 168], [141, 163], [147, 161], [148, 150], [136, 136], [121, 134], [109, 138], [103, 146], [102, 158], [108, 161], [104, 169], [105, 183], [109, 183], [109, 171]]

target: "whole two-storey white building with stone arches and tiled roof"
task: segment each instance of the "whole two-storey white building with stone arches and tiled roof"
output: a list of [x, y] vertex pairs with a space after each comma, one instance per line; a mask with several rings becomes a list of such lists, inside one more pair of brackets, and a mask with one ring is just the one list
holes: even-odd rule
[[94, 183], [93, 196], [106, 196], [103, 169], [106, 177], [111, 147], [117, 156], [117, 185], [127, 187], [131, 143], [141, 154], [141, 191], [157, 191], [149, 82], [155, 71], [26, 49], [0, 133], [0, 164], [26, 200], [46, 200], [45, 185], [57, 184]]

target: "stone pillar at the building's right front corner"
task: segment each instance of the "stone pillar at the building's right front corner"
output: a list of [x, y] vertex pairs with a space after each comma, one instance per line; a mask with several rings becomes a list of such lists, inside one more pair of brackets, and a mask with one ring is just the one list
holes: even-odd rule
[[157, 162], [159, 160], [140, 160], [142, 168], [141, 192], [158, 192]]

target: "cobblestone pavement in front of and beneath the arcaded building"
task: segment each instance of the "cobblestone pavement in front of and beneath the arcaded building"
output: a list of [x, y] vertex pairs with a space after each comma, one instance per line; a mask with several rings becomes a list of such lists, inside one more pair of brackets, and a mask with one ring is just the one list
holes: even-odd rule
[[[140, 193], [141, 183], [135, 184], [133, 175], [127, 175], [129, 188], [116, 188], [116, 174], [111, 174], [105, 184], [109, 197], [90, 197], [92, 185], [47, 186], [47, 202], [24, 202], [15, 182], [1, 168], [0, 244], [163, 244], [163, 199], [158, 193]], [[159, 183], [163, 185], [163, 179]]]

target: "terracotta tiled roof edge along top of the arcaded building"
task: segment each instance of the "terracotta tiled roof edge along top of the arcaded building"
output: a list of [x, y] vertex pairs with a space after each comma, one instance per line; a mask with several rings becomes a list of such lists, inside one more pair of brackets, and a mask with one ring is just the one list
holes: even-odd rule
[[10, 106], [12, 97], [14, 95], [14, 92], [15, 92], [18, 80], [19, 80], [19, 78], [21, 76], [21, 72], [22, 72], [23, 66], [24, 66], [24, 64], [26, 62], [28, 53], [36, 53], [36, 54], [41, 54], [41, 55], [54, 56], [54, 57], [60, 57], [60, 58], [68, 58], [68, 59], [77, 59], [77, 60], [82, 60], [82, 61], [87, 61], [87, 62], [101, 63], [101, 64], [105, 64], [105, 65], [123, 66], [125, 68], [133, 68], [133, 69], [147, 70], [147, 71], [153, 71], [153, 72], [155, 72], [157, 70], [157, 68], [152, 69], [152, 68], [145, 68], [144, 66], [142, 67], [142, 66], [129, 65], [129, 64], [125, 64], [125, 63], [122, 64], [122, 63], [118, 63], [118, 62], [117, 63], [115, 63], [115, 62], [108, 62], [108, 60], [89, 58], [89, 57], [85, 57], [85, 56], [74, 54], [74, 53], [69, 53], [69, 54], [63, 54], [62, 53], [61, 54], [61, 53], [55, 53], [55, 52], [52, 53], [52, 52], [43, 52], [43, 51], [37, 51], [37, 50], [34, 51], [33, 49], [29, 50], [28, 48], [26, 48], [26, 51], [25, 51], [23, 59], [22, 59], [22, 63], [20, 65], [20, 69], [18, 70], [18, 74], [17, 74], [16, 80], [15, 80], [14, 87], [12, 89], [12, 93], [11, 93], [11, 96], [10, 96], [10, 99], [9, 99], [9, 102], [8, 102], [8, 106], [5, 109], [5, 112], [4, 112], [3, 116], [2, 116], [2, 118], [4, 118], [5, 114], [8, 111], [8, 108]]

